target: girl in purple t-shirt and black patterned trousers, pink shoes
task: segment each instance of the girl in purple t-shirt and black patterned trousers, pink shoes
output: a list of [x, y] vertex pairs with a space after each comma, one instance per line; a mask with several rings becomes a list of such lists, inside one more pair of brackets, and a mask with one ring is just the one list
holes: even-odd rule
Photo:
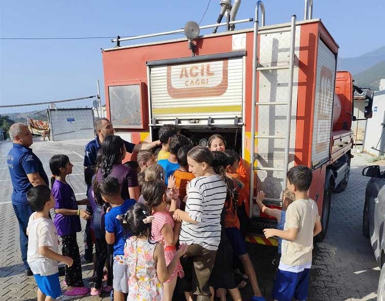
[[67, 296], [83, 296], [89, 293], [89, 288], [84, 286], [82, 279], [82, 264], [76, 232], [80, 232], [80, 218], [85, 220], [91, 216], [78, 205], [84, 205], [88, 199], [76, 202], [71, 186], [66, 182], [66, 176], [72, 173], [72, 164], [66, 155], [55, 155], [49, 160], [52, 172], [52, 195], [55, 198], [55, 217], [53, 223], [57, 234], [62, 237], [62, 254], [73, 259], [73, 265], [66, 267], [65, 281]]

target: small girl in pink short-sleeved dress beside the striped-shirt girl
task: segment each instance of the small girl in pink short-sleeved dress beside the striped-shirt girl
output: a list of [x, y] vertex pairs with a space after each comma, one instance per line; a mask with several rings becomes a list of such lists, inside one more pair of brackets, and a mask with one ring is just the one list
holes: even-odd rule
[[[164, 257], [166, 265], [170, 264], [177, 253], [176, 244], [179, 238], [181, 223], [175, 223], [171, 214], [176, 210], [177, 200], [171, 199], [170, 211], [166, 210], [166, 186], [161, 180], [150, 180], [142, 186], [143, 198], [148, 206], [152, 209], [154, 217], [151, 225], [152, 237], [155, 241], [159, 241], [164, 247]], [[182, 278], [184, 272], [178, 259], [176, 268], [167, 281], [163, 284], [164, 301], [171, 301], [177, 284], [177, 276]]]

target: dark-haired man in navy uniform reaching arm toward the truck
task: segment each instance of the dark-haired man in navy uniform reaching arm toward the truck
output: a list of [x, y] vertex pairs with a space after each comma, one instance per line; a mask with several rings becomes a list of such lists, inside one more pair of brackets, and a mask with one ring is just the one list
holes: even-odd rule
[[[102, 147], [104, 137], [113, 135], [114, 128], [112, 123], [107, 118], [98, 119], [95, 122], [95, 129], [98, 136], [95, 139], [87, 143], [84, 150], [84, 167], [93, 166], [96, 163], [98, 150]], [[153, 141], [151, 143], [133, 144], [128, 141], [124, 141], [128, 153], [138, 153], [142, 149], [151, 149], [154, 146], [160, 145], [160, 141]]]

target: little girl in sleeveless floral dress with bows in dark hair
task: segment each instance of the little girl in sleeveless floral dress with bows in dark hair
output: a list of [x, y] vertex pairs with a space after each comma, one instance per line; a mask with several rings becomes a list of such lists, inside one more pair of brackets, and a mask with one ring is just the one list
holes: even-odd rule
[[166, 266], [163, 247], [152, 242], [150, 209], [136, 203], [126, 214], [119, 216], [123, 227], [132, 236], [127, 239], [124, 253], [130, 277], [128, 279], [127, 300], [163, 300], [163, 285], [174, 272], [179, 258], [186, 253], [187, 246], [182, 244], [170, 264]]

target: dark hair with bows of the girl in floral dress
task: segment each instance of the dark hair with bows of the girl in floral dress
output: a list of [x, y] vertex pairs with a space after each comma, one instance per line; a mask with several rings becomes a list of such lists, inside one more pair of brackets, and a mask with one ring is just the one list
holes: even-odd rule
[[[151, 215], [151, 209], [143, 203], [135, 203], [125, 214], [118, 215], [124, 231], [133, 236], [146, 238], [151, 242], [151, 223], [144, 223], [143, 219]], [[151, 242], [152, 243], [152, 242]]]

